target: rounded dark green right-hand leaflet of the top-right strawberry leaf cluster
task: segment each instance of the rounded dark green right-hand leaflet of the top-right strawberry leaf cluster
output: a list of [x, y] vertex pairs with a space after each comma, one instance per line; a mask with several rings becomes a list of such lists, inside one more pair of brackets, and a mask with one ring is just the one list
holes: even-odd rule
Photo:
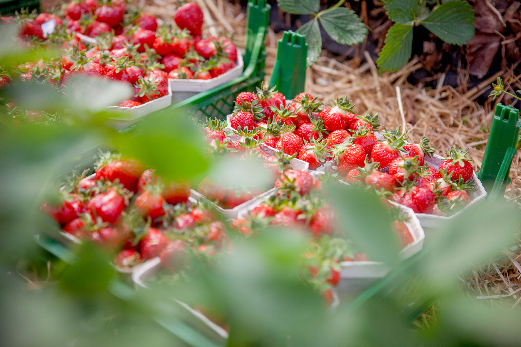
[[457, 0], [444, 3], [420, 23], [446, 43], [461, 46], [474, 36], [475, 20], [472, 6]]

